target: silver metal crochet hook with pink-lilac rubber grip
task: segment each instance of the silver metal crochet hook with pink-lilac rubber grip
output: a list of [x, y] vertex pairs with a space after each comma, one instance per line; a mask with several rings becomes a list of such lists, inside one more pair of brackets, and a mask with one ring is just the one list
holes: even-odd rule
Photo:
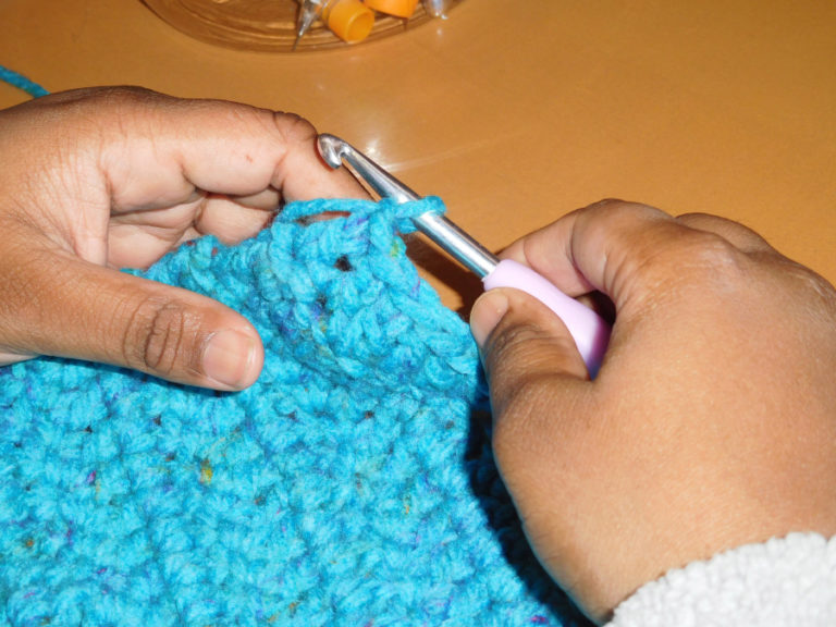
[[[381, 165], [340, 137], [323, 133], [319, 136], [317, 146], [325, 163], [337, 169], [345, 161], [381, 198], [393, 198], [397, 202], [421, 198]], [[551, 281], [531, 268], [511, 259], [500, 260], [445, 216], [427, 211], [413, 218], [413, 222], [418, 231], [438, 244], [442, 250], [476, 273], [482, 280], [485, 290], [515, 287], [533, 296], [554, 311], [575, 340], [589, 376], [595, 377], [610, 340], [610, 325], [603, 318], [561, 292]]]

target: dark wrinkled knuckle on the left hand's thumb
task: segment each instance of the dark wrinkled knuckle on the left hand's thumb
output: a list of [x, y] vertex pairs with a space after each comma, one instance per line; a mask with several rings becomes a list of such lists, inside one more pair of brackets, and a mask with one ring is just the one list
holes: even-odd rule
[[136, 305], [125, 327], [125, 362], [138, 370], [171, 376], [182, 364], [193, 361], [188, 352], [198, 330], [198, 321], [181, 303], [148, 296]]

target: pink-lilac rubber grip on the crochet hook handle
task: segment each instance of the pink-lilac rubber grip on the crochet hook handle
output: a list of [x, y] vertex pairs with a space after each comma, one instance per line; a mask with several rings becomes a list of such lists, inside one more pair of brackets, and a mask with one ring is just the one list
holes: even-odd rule
[[567, 296], [554, 284], [521, 263], [504, 259], [482, 279], [485, 290], [514, 287], [530, 294], [554, 311], [569, 330], [575, 344], [594, 379], [610, 341], [610, 325], [589, 307]]

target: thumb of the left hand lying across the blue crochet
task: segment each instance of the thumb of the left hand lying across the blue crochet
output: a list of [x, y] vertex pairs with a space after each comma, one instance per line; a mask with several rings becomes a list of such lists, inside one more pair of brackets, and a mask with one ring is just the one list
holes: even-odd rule
[[74, 258], [49, 255], [44, 266], [15, 270], [24, 287], [5, 299], [0, 324], [0, 346], [12, 353], [99, 361], [218, 390], [258, 378], [261, 340], [229, 307]]

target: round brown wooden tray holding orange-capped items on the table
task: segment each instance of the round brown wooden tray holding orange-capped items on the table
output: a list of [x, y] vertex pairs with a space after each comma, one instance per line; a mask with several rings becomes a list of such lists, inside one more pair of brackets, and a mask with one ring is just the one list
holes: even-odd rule
[[[210, 44], [243, 50], [294, 51], [296, 0], [142, 0], [162, 20], [190, 37]], [[450, 9], [462, 0], [451, 0]], [[421, 2], [409, 20], [377, 14], [371, 34], [365, 41], [397, 35], [433, 20]], [[315, 22], [295, 52], [348, 46]]]

